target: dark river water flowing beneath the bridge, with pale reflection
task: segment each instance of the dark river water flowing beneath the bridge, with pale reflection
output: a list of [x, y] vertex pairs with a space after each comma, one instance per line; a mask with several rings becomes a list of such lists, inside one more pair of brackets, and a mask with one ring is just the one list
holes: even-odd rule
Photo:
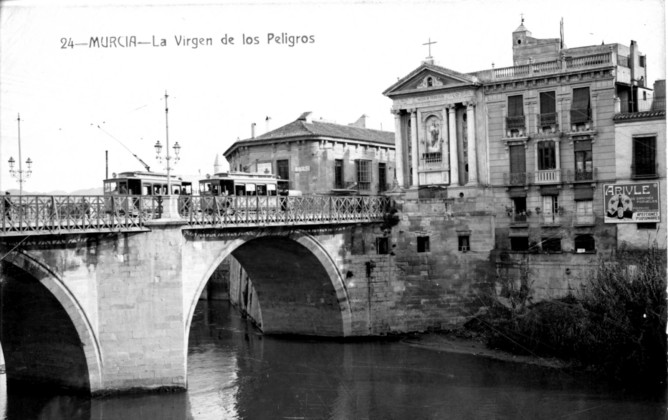
[[664, 419], [666, 392], [401, 341], [263, 337], [200, 301], [188, 391], [88, 399], [0, 389], [5, 419]]

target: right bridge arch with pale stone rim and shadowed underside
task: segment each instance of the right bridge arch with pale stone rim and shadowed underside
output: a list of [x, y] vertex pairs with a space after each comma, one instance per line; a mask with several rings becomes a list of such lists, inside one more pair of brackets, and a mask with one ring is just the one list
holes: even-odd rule
[[351, 335], [352, 311], [342, 273], [315, 237], [291, 230], [239, 235], [215, 251], [189, 298], [186, 337], [199, 296], [230, 255], [253, 279], [265, 333]]

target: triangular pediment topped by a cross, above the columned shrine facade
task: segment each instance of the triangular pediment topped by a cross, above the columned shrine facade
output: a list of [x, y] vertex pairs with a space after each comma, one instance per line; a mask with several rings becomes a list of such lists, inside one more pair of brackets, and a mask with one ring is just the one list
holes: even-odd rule
[[424, 63], [409, 75], [390, 86], [383, 94], [392, 97], [406, 93], [461, 88], [476, 86], [478, 84], [475, 76]]

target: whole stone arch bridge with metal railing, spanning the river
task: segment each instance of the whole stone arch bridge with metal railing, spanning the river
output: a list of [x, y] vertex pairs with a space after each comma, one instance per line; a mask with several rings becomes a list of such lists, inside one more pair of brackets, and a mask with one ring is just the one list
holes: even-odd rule
[[390, 255], [372, 253], [388, 234], [379, 223], [387, 205], [382, 197], [12, 197], [0, 241], [8, 387], [186, 388], [194, 308], [228, 256], [253, 279], [266, 334], [405, 329], [404, 308], [416, 304], [396, 305], [405, 286]]

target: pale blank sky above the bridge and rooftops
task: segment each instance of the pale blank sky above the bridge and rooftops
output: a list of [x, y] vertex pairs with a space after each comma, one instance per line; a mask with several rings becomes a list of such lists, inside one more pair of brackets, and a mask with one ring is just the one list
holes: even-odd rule
[[339, 124], [365, 114], [393, 131], [382, 92], [429, 55], [426, 42], [458, 72], [509, 67], [522, 16], [537, 38], [558, 38], [563, 18], [567, 47], [635, 40], [648, 81], [665, 79], [663, 0], [4, 1], [0, 190], [18, 189], [7, 162], [19, 115], [22, 161], [33, 161], [24, 193], [101, 187], [107, 162], [110, 175], [143, 170], [133, 155], [164, 172], [154, 144], [167, 137], [181, 146], [172, 173], [197, 180], [267, 117], [273, 129], [305, 111]]

